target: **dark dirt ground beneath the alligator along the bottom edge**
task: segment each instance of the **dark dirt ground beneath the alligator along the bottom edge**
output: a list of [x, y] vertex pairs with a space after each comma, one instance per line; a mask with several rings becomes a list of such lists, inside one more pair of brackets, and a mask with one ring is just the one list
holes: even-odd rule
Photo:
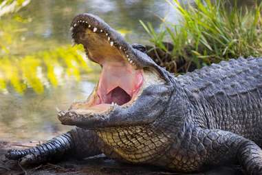
[[[39, 143], [39, 142], [37, 142]], [[177, 174], [174, 172], [167, 172], [154, 166], [137, 166], [118, 163], [102, 154], [100, 156], [87, 158], [83, 161], [71, 160], [63, 161], [61, 163], [47, 163], [35, 167], [22, 167], [18, 161], [8, 160], [4, 154], [11, 148], [24, 149], [36, 145], [37, 143], [6, 143], [0, 141], [0, 175], [169, 175]], [[210, 170], [205, 173], [191, 174], [191, 175], [242, 175], [241, 170], [237, 167], [217, 167], [217, 169]], [[182, 174], [181, 174], [182, 175]]]

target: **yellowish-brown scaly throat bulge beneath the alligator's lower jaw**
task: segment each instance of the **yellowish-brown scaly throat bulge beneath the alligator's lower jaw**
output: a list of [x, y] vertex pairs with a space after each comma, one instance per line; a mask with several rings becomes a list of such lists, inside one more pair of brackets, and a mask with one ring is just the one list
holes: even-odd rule
[[111, 127], [97, 132], [102, 141], [116, 154], [116, 158], [129, 163], [152, 163], [160, 158], [170, 145], [168, 136], [142, 126]]

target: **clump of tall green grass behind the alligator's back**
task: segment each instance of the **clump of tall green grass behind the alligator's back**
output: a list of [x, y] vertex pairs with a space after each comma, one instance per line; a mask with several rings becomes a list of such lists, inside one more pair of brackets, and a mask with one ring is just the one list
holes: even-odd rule
[[[262, 3], [248, 9], [236, 3], [228, 7], [225, 1], [197, 0], [195, 6], [184, 6], [178, 0], [167, 2], [181, 15], [179, 25], [163, 22], [156, 32], [151, 23], [140, 23], [150, 41], [172, 59], [182, 58], [201, 68], [239, 56], [262, 56]], [[165, 39], [175, 46], [172, 51], [163, 45]]]

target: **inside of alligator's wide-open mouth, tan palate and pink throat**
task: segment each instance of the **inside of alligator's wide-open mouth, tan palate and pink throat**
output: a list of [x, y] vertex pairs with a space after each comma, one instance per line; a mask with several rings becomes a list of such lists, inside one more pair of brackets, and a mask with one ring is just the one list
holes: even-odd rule
[[71, 110], [78, 113], [106, 112], [112, 105], [130, 105], [143, 84], [143, 70], [138, 69], [128, 53], [127, 43], [115, 31], [91, 17], [74, 20], [72, 42], [83, 44], [91, 61], [102, 72], [93, 94], [84, 103], [74, 103]]

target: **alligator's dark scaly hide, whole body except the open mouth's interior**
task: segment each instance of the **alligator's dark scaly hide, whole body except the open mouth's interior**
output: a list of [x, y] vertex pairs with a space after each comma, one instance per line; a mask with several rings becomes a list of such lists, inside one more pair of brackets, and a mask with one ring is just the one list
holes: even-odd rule
[[239, 163], [247, 174], [262, 174], [262, 58], [222, 61], [175, 77], [94, 15], [74, 19], [77, 43], [85, 38], [87, 26], [80, 25], [84, 20], [87, 26], [109, 32], [138, 67], [156, 70], [166, 83], [145, 88], [133, 105], [113, 107], [107, 114], [60, 112], [61, 122], [78, 126], [76, 130], [47, 142], [50, 147], [44, 143], [10, 151], [8, 158], [43, 163], [56, 155], [87, 157], [102, 152], [120, 161], [177, 172]]

